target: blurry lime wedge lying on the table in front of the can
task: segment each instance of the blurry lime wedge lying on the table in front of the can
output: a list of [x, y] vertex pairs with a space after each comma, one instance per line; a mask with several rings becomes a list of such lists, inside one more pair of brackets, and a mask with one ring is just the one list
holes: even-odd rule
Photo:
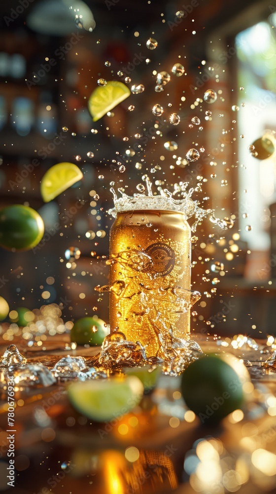
[[69, 386], [68, 397], [78, 412], [104, 422], [133, 410], [140, 403], [143, 389], [136, 376], [111, 377], [74, 382]]

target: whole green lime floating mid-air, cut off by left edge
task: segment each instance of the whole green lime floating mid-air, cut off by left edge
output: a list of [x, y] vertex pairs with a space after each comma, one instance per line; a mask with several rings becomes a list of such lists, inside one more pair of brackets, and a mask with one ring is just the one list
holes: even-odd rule
[[44, 223], [35, 209], [15, 204], [0, 210], [0, 246], [8, 250], [30, 250], [39, 244]]

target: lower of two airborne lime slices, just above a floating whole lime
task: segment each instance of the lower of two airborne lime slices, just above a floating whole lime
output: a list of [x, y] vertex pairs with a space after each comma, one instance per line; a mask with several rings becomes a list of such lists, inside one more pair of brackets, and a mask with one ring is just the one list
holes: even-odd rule
[[42, 177], [40, 192], [44, 203], [55, 199], [83, 177], [82, 172], [73, 163], [58, 163], [51, 166]]

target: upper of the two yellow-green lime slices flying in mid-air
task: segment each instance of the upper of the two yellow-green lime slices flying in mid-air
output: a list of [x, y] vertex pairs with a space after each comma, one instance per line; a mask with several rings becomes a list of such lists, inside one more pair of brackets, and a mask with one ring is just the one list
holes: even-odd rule
[[105, 86], [96, 87], [88, 100], [88, 110], [94, 122], [113, 110], [130, 94], [130, 89], [120, 81], [108, 81]]

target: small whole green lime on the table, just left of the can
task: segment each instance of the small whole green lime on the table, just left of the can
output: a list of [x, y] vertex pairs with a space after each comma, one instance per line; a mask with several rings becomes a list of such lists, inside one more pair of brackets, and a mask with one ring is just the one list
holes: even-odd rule
[[75, 321], [71, 329], [71, 341], [77, 345], [102, 345], [108, 333], [109, 329], [103, 319], [82, 317]]

